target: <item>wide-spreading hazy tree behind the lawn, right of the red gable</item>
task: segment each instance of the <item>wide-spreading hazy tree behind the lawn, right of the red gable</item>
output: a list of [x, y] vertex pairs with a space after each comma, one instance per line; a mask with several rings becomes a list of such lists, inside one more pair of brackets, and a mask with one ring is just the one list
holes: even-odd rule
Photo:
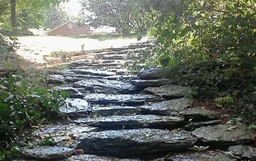
[[80, 21], [87, 27], [115, 27], [122, 34], [145, 32], [142, 11], [137, 0], [83, 0]]

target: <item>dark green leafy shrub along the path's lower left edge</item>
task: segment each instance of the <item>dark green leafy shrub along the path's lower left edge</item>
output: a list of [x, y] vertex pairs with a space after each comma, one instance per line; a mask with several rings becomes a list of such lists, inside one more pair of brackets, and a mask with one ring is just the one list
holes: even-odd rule
[[0, 78], [0, 151], [19, 144], [32, 125], [61, 117], [66, 97], [66, 92], [20, 81], [17, 75]]

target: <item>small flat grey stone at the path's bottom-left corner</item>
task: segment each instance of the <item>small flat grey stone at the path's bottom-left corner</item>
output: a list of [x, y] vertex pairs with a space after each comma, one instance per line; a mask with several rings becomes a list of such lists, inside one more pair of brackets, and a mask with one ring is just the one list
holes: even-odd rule
[[25, 159], [36, 160], [56, 160], [70, 157], [73, 154], [73, 149], [65, 147], [41, 147], [35, 149], [25, 149], [22, 152], [22, 156]]

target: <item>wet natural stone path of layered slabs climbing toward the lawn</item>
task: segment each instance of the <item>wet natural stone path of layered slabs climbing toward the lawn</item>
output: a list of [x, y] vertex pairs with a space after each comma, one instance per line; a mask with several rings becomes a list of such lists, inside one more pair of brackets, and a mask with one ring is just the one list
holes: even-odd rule
[[[69, 120], [35, 130], [35, 142], [50, 137], [56, 145], [24, 148], [23, 158], [148, 161], [171, 152], [166, 161], [256, 160], [256, 148], [250, 146], [255, 136], [245, 126], [221, 124], [217, 112], [191, 108], [187, 87], [173, 85], [169, 76], [159, 73], [164, 70], [125, 75], [125, 54], [148, 47], [133, 44], [101, 50], [95, 60], [51, 71], [48, 83], [70, 92], [66, 106], [60, 108]], [[198, 152], [194, 146], [209, 148]]]

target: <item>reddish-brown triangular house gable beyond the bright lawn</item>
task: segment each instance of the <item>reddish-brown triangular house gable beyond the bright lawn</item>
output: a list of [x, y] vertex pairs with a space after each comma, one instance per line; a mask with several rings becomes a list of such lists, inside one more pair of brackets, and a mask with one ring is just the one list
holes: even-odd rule
[[56, 36], [56, 35], [82, 35], [82, 34], [88, 34], [89, 29], [78, 27], [75, 23], [73, 23], [73, 28], [69, 29], [68, 24], [65, 24], [59, 28], [56, 28], [55, 30], [52, 30], [47, 33], [48, 36]]

